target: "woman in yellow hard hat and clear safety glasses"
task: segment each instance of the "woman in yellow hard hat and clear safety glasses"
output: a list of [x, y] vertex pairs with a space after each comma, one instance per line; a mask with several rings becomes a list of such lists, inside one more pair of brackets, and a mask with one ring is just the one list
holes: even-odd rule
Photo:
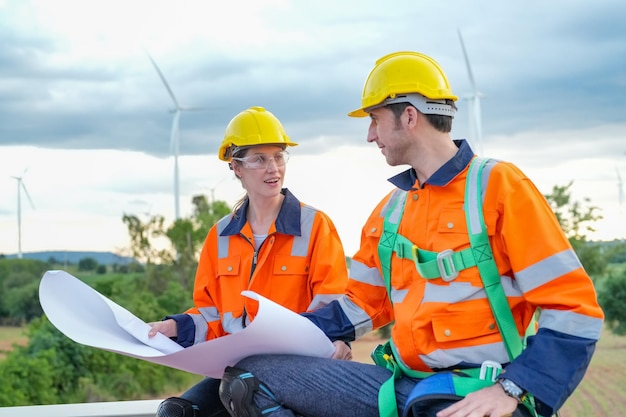
[[[283, 188], [288, 146], [296, 146], [280, 121], [250, 107], [228, 124], [218, 157], [229, 164], [246, 193], [233, 212], [209, 231], [198, 263], [194, 307], [154, 323], [184, 347], [235, 333], [254, 318], [256, 305], [241, 296], [254, 291], [301, 313], [339, 298], [348, 271], [331, 219]], [[343, 342], [337, 354], [351, 358]], [[181, 397], [163, 401], [159, 417], [228, 416], [220, 380], [206, 378]]]

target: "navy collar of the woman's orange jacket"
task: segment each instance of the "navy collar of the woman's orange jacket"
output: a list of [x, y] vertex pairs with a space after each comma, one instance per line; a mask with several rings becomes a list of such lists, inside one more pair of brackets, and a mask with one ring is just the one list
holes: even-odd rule
[[[287, 188], [283, 188], [281, 193], [285, 196], [283, 204], [280, 206], [278, 216], [274, 221], [277, 233], [285, 235], [301, 236], [300, 230], [300, 201]], [[248, 209], [249, 200], [234, 213], [228, 225], [222, 230], [220, 236], [232, 236], [241, 232], [248, 219], [246, 211]]]

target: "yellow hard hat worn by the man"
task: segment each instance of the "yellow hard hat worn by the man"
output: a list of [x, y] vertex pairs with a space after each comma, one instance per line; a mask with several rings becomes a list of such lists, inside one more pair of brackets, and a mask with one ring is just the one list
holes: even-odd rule
[[[412, 100], [398, 99], [398, 95]], [[348, 116], [366, 117], [368, 110], [402, 101], [411, 102], [425, 114], [454, 115], [452, 106], [445, 104], [446, 99], [456, 101], [458, 97], [452, 93], [446, 74], [434, 59], [419, 52], [394, 52], [376, 61], [363, 87], [361, 107]], [[434, 106], [425, 106], [425, 112], [414, 101]]]

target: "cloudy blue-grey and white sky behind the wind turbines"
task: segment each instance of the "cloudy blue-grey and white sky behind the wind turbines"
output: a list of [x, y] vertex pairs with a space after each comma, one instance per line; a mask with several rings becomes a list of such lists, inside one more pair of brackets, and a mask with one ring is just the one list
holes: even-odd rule
[[388, 190], [360, 103], [377, 58], [416, 50], [454, 92], [482, 93], [482, 140], [460, 99], [453, 136], [506, 159], [544, 193], [574, 181], [626, 237], [626, 2], [0, 0], [0, 253], [128, 246], [124, 213], [174, 216], [172, 100], [180, 123], [180, 206], [242, 189], [216, 157], [228, 121], [252, 105], [283, 122], [286, 185], [331, 215], [348, 255]]

